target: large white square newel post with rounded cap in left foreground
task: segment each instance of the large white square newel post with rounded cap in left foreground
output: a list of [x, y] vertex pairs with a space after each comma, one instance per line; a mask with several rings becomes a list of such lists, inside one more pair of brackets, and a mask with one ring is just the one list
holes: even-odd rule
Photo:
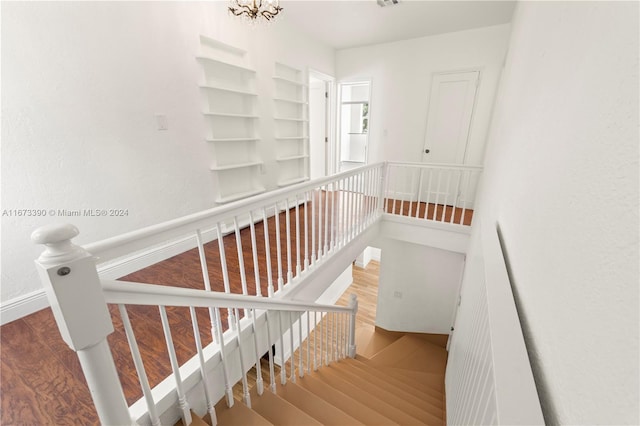
[[91, 397], [104, 425], [134, 422], [122, 391], [107, 336], [113, 324], [96, 271], [94, 258], [71, 239], [73, 225], [48, 225], [31, 234], [45, 251], [36, 267], [47, 293], [60, 334], [76, 351]]

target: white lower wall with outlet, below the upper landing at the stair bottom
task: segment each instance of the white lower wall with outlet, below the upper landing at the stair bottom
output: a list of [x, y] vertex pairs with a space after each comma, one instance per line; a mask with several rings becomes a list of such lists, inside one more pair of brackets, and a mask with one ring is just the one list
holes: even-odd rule
[[449, 334], [464, 255], [392, 238], [380, 241], [376, 325], [385, 330]]

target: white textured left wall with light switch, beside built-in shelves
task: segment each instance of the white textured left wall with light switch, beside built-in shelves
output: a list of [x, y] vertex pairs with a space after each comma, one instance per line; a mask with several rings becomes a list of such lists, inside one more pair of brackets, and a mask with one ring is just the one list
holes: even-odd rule
[[[40, 289], [33, 259], [42, 248], [29, 240], [40, 225], [72, 222], [77, 242], [86, 243], [214, 206], [195, 59], [200, 34], [248, 50], [269, 80], [274, 61], [334, 74], [333, 49], [286, 20], [250, 27], [225, 7], [2, 4], [3, 211], [128, 210], [125, 217], [4, 215], [3, 306]], [[156, 130], [155, 114], [167, 116], [168, 130]], [[274, 142], [261, 143], [265, 179], [275, 186]]]

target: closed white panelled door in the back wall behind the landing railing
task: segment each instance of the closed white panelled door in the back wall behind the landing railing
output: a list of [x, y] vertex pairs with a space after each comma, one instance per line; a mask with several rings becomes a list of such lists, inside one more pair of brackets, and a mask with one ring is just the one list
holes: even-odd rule
[[[464, 163], [479, 76], [479, 71], [433, 75], [422, 153], [424, 163]], [[421, 201], [457, 205], [461, 183], [455, 172], [443, 169], [421, 173], [420, 178]]]

